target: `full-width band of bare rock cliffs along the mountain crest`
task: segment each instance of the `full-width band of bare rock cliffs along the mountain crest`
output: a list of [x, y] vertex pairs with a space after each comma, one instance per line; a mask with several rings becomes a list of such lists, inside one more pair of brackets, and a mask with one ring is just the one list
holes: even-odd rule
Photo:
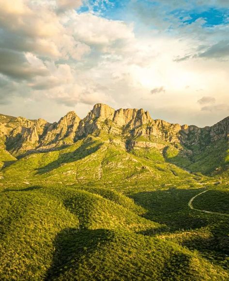
[[52, 150], [101, 132], [108, 134], [110, 143], [120, 143], [122, 147], [128, 143], [131, 148], [163, 149], [168, 144], [201, 148], [214, 141], [229, 140], [229, 117], [214, 126], [199, 128], [153, 120], [143, 109], [115, 110], [105, 104], [96, 104], [82, 120], [70, 111], [53, 124], [43, 119], [28, 120], [0, 114], [0, 146], [14, 156], [34, 150]]

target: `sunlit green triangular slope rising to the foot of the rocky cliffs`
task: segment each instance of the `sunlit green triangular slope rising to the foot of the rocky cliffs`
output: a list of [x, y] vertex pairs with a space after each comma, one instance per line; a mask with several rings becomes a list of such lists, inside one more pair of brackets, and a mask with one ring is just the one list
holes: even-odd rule
[[[144, 151], [142, 152], [144, 153]], [[127, 152], [100, 138], [83, 141], [48, 153], [25, 156], [5, 168], [7, 186], [54, 183], [77, 187], [145, 188], [153, 186], [198, 187], [197, 177], [164, 160], [160, 151], [150, 150], [148, 158], [141, 150]], [[169, 183], [168, 183], [169, 182]]]

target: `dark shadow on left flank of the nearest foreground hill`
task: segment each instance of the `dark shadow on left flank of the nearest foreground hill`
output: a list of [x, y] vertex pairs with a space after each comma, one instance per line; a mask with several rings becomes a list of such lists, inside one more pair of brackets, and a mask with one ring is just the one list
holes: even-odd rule
[[69, 270], [76, 276], [79, 265], [83, 264], [98, 245], [106, 244], [113, 236], [113, 232], [106, 229], [62, 230], [54, 241], [53, 261], [45, 280], [58, 279], [60, 275], [64, 278], [64, 273]]

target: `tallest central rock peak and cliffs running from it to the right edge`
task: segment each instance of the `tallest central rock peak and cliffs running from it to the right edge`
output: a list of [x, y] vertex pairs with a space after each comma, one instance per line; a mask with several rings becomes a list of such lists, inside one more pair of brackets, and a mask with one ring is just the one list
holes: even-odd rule
[[[149, 146], [162, 149], [165, 144], [180, 143], [186, 147], [206, 146], [210, 142], [229, 135], [229, 117], [212, 127], [199, 128], [195, 125], [171, 124], [163, 120], [153, 120], [143, 109], [112, 109], [104, 104], [96, 104], [86, 118], [80, 121], [76, 139], [92, 134], [97, 130], [126, 138], [143, 137], [151, 141]], [[154, 143], [154, 144], [153, 144]], [[144, 146], [132, 141], [131, 146]]]

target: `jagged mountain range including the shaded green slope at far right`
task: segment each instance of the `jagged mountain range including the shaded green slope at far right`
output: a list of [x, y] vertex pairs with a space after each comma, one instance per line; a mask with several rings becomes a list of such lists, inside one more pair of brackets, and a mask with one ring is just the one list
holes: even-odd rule
[[126, 151], [155, 148], [169, 162], [193, 172], [209, 174], [227, 168], [229, 117], [199, 128], [153, 120], [143, 109], [115, 110], [104, 104], [96, 104], [82, 120], [70, 111], [53, 124], [0, 115], [1, 147], [13, 157], [52, 151], [91, 135]]

